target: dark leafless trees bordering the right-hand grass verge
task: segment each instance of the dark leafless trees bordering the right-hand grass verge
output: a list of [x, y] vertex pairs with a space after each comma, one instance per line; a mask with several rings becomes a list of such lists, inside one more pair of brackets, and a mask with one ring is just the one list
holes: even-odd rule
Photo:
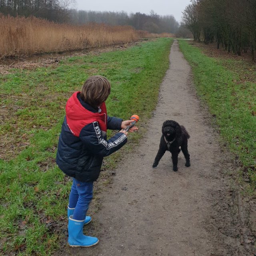
[[238, 55], [250, 50], [256, 62], [256, 0], [192, 0], [181, 24], [195, 41], [216, 42]]

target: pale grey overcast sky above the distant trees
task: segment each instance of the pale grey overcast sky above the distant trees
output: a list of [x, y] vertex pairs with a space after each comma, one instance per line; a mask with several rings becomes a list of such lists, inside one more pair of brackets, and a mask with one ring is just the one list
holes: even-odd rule
[[150, 14], [150, 10], [154, 10], [159, 15], [172, 14], [180, 22], [181, 12], [189, 3], [190, 0], [76, 0], [74, 8], [87, 11], [125, 11], [128, 14], [131, 12]]

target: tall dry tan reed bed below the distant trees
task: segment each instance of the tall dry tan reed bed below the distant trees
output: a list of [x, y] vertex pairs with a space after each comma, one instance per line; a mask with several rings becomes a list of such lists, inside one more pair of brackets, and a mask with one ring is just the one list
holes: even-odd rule
[[35, 17], [0, 15], [0, 58], [65, 52], [152, 37], [131, 26], [57, 24]]

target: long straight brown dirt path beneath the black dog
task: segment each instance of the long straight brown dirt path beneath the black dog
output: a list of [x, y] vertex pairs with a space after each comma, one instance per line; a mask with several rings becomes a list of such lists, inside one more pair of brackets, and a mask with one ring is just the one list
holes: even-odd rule
[[[91, 235], [100, 243], [66, 248], [61, 255], [251, 255], [241, 245], [236, 193], [223, 178], [232, 164], [220, 150], [207, 116], [190, 84], [190, 66], [175, 41], [148, 132], [117, 168], [114, 182], [101, 195], [102, 210], [93, 216], [100, 226]], [[191, 136], [191, 166], [184, 166], [180, 154], [178, 172], [172, 171], [169, 152], [152, 168], [167, 119], [184, 125]]]

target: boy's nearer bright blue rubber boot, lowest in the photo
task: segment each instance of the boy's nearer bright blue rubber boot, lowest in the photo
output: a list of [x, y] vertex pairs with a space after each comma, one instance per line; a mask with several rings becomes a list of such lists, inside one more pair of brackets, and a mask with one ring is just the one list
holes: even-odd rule
[[70, 247], [90, 247], [98, 244], [98, 238], [84, 235], [83, 226], [84, 220], [74, 220], [73, 215], [69, 217], [68, 245]]

